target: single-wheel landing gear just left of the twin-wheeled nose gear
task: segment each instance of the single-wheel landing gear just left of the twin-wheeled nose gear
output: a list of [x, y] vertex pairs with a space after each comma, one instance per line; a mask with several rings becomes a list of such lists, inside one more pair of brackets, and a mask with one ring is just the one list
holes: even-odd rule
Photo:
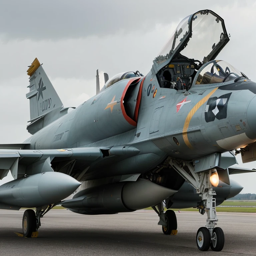
[[[158, 225], [162, 225], [162, 230], [165, 235], [176, 235], [177, 234], [177, 218], [173, 210], [167, 210], [164, 212], [163, 202], [152, 206], [155, 212], [159, 216]], [[157, 210], [158, 208], [158, 210]]]

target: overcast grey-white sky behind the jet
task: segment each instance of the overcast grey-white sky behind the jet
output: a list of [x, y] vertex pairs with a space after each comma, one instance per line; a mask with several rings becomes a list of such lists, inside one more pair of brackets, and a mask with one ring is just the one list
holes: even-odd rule
[[[30, 135], [27, 66], [38, 58], [65, 107], [78, 106], [125, 71], [147, 74], [152, 60], [186, 16], [210, 9], [225, 20], [230, 42], [219, 54], [256, 81], [256, 1], [171, 0], [0, 0], [0, 143]], [[240, 161], [241, 158], [238, 158]], [[241, 163], [241, 161], [239, 162]], [[256, 163], [242, 165], [256, 167]], [[256, 174], [232, 175], [256, 193]], [[1, 182], [1, 181], [0, 181]]]

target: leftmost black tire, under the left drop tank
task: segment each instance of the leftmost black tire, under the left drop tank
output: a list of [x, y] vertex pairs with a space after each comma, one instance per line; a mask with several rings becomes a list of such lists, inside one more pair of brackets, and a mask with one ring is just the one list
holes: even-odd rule
[[36, 231], [36, 214], [32, 209], [28, 209], [23, 214], [22, 230], [25, 237], [31, 237]]

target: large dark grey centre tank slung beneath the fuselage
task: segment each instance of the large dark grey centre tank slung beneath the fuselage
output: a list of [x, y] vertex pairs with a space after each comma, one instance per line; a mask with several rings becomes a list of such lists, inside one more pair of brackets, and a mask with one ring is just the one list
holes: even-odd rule
[[156, 205], [176, 192], [151, 181], [138, 179], [84, 189], [73, 199], [62, 202], [62, 206], [88, 215], [131, 212]]

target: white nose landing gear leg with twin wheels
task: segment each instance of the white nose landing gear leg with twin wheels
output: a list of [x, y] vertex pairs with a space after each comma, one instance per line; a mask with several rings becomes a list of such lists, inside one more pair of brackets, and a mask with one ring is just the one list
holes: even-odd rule
[[[207, 220], [205, 227], [199, 228], [196, 234], [198, 249], [200, 251], [207, 251], [211, 247], [213, 251], [221, 251], [224, 247], [225, 237], [223, 230], [215, 227], [218, 219], [215, 208], [216, 201], [213, 196], [216, 193], [213, 191], [210, 180], [212, 175], [217, 175], [216, 169], [195, 172], [195, 168], [190, 162], [179, 162], [174, 159], [170, 160], [170, 165], [196, 189], [196, 192], [202, 198], [197, 208], [201, 214], [207, 213]], [[212, 180], [212, 182], [214, 181]]]

